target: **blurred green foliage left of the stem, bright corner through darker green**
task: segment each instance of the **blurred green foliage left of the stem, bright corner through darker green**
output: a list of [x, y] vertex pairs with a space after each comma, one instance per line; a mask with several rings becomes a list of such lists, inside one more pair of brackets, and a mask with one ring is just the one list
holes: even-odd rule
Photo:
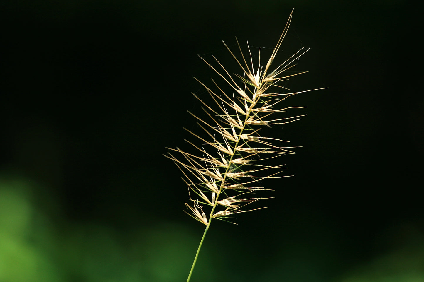
[[26, 180], [0, 177], [1, 282], [172, 282], [186, 276], [198, 239], [189, 230], [160, 223], [123, 234], [95, 222], [55, 225], [33, 203], [33, 193]]

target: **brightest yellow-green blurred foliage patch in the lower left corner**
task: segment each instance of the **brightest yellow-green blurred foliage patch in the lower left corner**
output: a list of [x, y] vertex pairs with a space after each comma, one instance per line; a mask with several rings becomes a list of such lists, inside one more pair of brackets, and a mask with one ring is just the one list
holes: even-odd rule
[[34, 242], [44, 235], [47, 245], [54, 243], [49, 225], [33, 226], [39, 215], [31, 205], [31, 192], [26, 181], [0, 177], [0, 281], [64, 281], [44, 244]]

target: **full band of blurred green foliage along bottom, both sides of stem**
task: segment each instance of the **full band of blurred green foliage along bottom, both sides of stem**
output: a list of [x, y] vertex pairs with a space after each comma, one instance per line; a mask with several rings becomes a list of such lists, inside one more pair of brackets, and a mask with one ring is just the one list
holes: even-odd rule
[[[162, 221], [128, 233], [88, 221], [62, 218], [57, 224], [53, 214], [43, 213], [43, 203], [34, 201], [34, 193], [34, 183], [28, 180], [0, 177], [0, 282], [177, 282], [187, 275], [199, 239], [190, 228]], [[349, 266], [337, 279], [328, 280], [332, 275], [325, 273], [325, 264], [332, 254], [324, 248], [319, 259], [301, 242], [286, 250], [275, 246], [276, 255], [268, 265], [259, 263], [264, 257], [255, 252], [249, 257], [244, 251], [252, 263], [257, 260], [255, 269], [237, 263], [243, 249], [237, 238], [215, 232], [193, 278], [217, 281], [216, 270], [223, 268], [229, 279], [240, 282], [422, 282], [424, 240], [419, 232], [406, 233], [390, 252]], [[221, 246], [221, 240], [229, 246]], [[392, 240], [390, 234], [387, 240]]]

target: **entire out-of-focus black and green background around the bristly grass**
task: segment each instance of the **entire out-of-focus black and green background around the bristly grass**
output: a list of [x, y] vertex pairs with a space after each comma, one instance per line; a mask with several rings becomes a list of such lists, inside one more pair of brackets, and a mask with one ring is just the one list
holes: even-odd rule
[[[191, 281], [424, 280], [424, 99], [412, 1], [3, 1], [0, 281], [185, 281], [203, 227], [162, 156], [248, 40], [311, 47], [268, 209], [214, 222]], [[265, 49], [268, 50], [268, 49]], [[191, 139], [193, 140], [193, 139]], [[265, 202], [267, 201], [267, 202]]]

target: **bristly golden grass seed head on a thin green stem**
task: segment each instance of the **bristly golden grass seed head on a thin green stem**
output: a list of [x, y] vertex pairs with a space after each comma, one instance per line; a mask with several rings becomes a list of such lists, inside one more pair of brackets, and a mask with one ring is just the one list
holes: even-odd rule
[[198, 120], [197, 123], [204, 133], [197, 134], [186, 130], [200, 140], [200, 144], [186, 140], [195, 153], [179, 148], [167, 148], [170, 152], [166, 157], [181, 169], [183, 180], [189, 188], [190, 202], [186, 203], [187, 213], [206, 226], [187, 282], [190, 281], [212, 221], [218, 219], [232, 222], [232, 216], [237, 213], [265, 208], [248, 207], [260, 199], [267, 199], [257, 196], [258, 192], [271, 190], [259, 187], [259, 181], [287, 177], [280, 174], [284, 165], [270, 163], [275, 163], [271, 161], [273, 158], [293, 154], [293, 147], [285, 146], [288, 141], [263, 137], [259, 133], [263, 127], [300, 119], [301, 116], [274, 116], [290, 108], [303, 107], [277, 106], [291, 95], [317, 90], [292, 92], [282, 85], [290, 77], [304, 73], [287, 70], [296, 65], [293, 62], [303, 55], [306, 49], [298, 50], [277, 67], [271, 67], [287, 34], [292, 15], [293, 11], [265, 66], [260, 61], [260, 49], [259, 64], [255, 67], [249, 46], [249, 56], [246, 58], [238, 41], [240, 58], [237, 58], [225, 42], [223, 43], [240, 66], [241, 74], [229, 73], [215, 57], [215, 66], [201, 57], [222, 78], [229, 91], [214, 80], [212, 81], [216, 90], [199, 81], [212, 97], [212, 104], [193, 94], [202, 103], [202, 109], [208, 118], [205, 120], [189, 112]]

